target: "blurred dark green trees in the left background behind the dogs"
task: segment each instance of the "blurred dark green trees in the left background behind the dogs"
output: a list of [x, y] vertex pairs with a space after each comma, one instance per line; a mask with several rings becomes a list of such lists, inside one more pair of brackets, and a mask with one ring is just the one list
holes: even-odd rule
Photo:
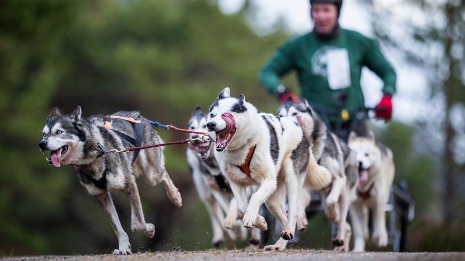
[[[80, 104], [84, 115], [137, 109], [185, 126], [197, 104], [207, 109], [230, 86], [273, 111], [276, 102], [262, 93], [256, 73], [283, 35], [259, 38], [241, 14], [226, 16], [209, 0], [1, 1], [0, 255], [104, 253], [117, 245], [72, 169], [52, 168], [38, 152], [53, 106], [66, 113]], [[210, 230], [205, 209], [191, 207], [198, 203], [185, 149], [165, 149], [183, 208], [163, 188], [140, 182], [146, 219], [157, 231], [151, 240], [135, 235], [135, 249], [210, 246], [208, 234], [184, 233], [189, 223]], [[131, 234], [127, 199], [116, 193], [115, 203]]]

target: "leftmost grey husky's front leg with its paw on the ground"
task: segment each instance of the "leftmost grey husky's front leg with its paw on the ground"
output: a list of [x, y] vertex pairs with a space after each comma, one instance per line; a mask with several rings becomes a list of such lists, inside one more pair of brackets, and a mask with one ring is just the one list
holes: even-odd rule
[[129, 237], [127, 236], [125, 230], [121, 226], [120, 219], [116, 213], [113, 200], [109, 192], [95, 196], [97, 201], [100, 203], [105, 216], [107, 216], [110, 221], [110, 225], [118, 237], [118, 249], [113, 251], [114, 255], [128, 255], [132, 254], [131, 244], [129, 244]]

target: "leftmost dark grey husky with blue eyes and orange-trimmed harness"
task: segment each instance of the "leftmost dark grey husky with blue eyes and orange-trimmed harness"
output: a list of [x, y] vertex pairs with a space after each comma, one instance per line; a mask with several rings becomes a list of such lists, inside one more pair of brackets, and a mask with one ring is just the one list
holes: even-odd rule
[[[139, 119], [141, 135], [138, 137], [142, 136], [143, 145], [163, 142], [139, 112], [117, 112], [111, 115], [113, 116]], [[131, 229], [149, 238], [153, 237], [155, 226], [145, 223], [136, 177], [143, 175], [150, 185], [162, 182], [169, 199], [178, 207], [181, 206], [181, 195], [165, 170], [160, 147], [139, 153], [103, 153], [99, 144], [107, 149], [131, 147], [134, 144], [126, 139], [137, 135], [135, 125], [121, 118], [113, 119], [111, 128], [104, 127], [105, 123], [110, 123], [106, 122], [109, 121], [106, 120], [108, 118], [98, 115], [83, 119], [80, 106], [69, 115], [61, 115], [55, 107], [42, 130], [43, 139], [39, 147], [42, 153], [51, 151], [47, 160], [55, 167], [60, 167], [61, 164], [72, 165], [79, 182], [100, 203], [118, 237], [119, 246], [113, 254], [126, 255], [131, 254], [131, 244], [121, 226], [110, 192], [124, 191], [127, 194], [131, 205]]]

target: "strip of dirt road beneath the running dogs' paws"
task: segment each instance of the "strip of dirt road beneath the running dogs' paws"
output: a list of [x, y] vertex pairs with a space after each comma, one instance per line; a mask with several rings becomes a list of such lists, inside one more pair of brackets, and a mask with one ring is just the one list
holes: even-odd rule
[[86, 256], [42, 256], [2, 257], [0, 260], [14, 261], [464, 261], [465, 253], [334, 253], [322, 250], [289, 249], [283, 252], [262, 250], [208, 250], [138, 253], [129, 256], [86, 255]]

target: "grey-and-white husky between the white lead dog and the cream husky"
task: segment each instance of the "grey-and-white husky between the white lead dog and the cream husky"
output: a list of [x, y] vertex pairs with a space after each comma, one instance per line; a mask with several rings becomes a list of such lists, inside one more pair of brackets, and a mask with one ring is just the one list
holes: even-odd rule
[[[302, 126], [318, 164], [329, 170], [332, 177], [331, 184], [322, 189], [325, 213], [329, 220], [338, 225], [336, 238], [333, 239], [333, 244], [336, 246], [334, 249], [348, 251], [351, 227], [346, 219], [350, 203], [356, 197], [358, 163], [355, 154], [346, 142], [326, 129], [324, 122], [305, 99], [299, 102], [286, 100], [278, 108], [278, 116], [290, 116]], [[312, 188], [308, 178], [305, 179], [304, 188], [299, 196], [298, 205], [297, 227], [301, 231], [308, 226], [305, 208], [310, 203], [310, 191], [319, 190]]]

